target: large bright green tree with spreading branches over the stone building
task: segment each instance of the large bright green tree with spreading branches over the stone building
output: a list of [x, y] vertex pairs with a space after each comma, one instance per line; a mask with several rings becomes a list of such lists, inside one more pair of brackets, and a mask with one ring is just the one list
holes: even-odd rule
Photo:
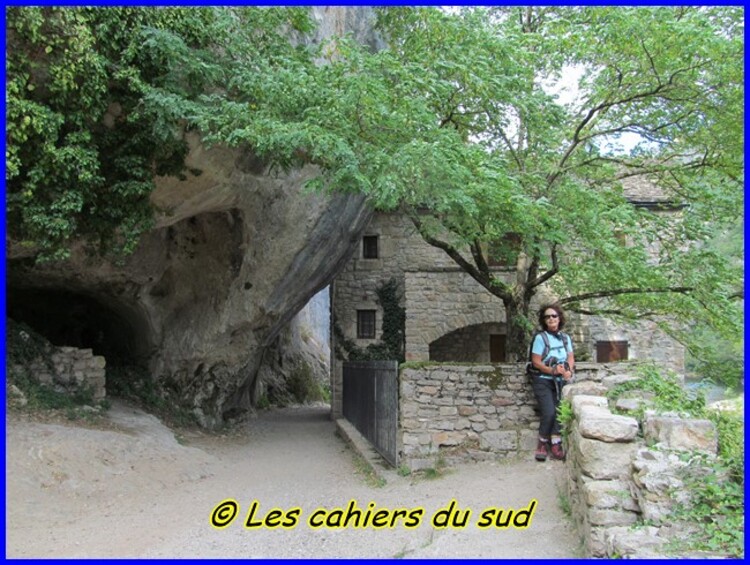
[[[568, 310], [654, 319], [689, 347], [697, 325], [739, 340], [741, 266], [706, 242], [742, 217], [741, 9], [386, 8], [377, 52], [302, 41], [299, 13], [200, 13], [201, 40], [193, 24], [128, 28], [126, 84], [141, 90], [127, 115], [159, 139], [197, 128], [280, 169], [317, 165], [313, 188], [407, 214], [503, 301], [512, 358], [542, 285]], [[563, 104], [545, 85], [571, 70]], [[625, 134], [641, 142], [616, 150]], [[631, 177], [687, 207], [672, 222], [634, 207]]]

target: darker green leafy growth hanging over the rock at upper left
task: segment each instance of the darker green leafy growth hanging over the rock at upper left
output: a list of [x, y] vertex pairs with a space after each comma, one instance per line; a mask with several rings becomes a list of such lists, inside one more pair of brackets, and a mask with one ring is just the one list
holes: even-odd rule
[[155, 175], [186, 178], [194, 105], [226, 92], [228, 68], [295, 53], [282, 28], [309, 32], [306, 11], [8, 8], [9, 234], [39, 260], [79, 237], [132, 251], [152, 225]]

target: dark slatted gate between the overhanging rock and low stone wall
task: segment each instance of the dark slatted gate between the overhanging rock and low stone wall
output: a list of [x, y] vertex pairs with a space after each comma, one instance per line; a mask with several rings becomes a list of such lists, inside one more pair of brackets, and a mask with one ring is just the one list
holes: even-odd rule
[[344, 418], [398, 465], [398, 361], [345, 361]]

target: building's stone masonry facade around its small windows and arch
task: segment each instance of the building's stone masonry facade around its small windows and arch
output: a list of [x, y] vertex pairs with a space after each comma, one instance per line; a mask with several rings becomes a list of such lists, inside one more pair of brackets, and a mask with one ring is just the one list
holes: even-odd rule
[[[639, 197], [649, 196], [639, 185], [632, 188], [636, 189], [640, 191]], [[462, 327], [505, 323], [502, 302], [458, 269], [442, 250], [425, 243], [405, 217], [376, 213], [365, 235], [378, 236], [379, 257], [363, 259], [360, 243], [357, 254], [337, 277], [333, 290], [336, 322], [358, 346], [366, 347], [380, 338], [383, 318], [375, 291], [391, 278], [404, 293], [401, 305], [407, 311], [407, 361], [431, 360], [430, 344]], [[498, 270], [498, 274], [511, 282], [511, 271]], [[543, 290], [535, 297], [532, 311], [552, 300], [554, 297]], [[376, 339], [356, 339], [357, 309], [376, 311]], [[684, 348], [654, 323], [622, 325], [595, 316], [568, 318], [566, 331], [576, 343], [580, 360], [597, 360], [597, 341], [626, 340], [630, 360], [654, 359], [678, 373], [684, 372]]]

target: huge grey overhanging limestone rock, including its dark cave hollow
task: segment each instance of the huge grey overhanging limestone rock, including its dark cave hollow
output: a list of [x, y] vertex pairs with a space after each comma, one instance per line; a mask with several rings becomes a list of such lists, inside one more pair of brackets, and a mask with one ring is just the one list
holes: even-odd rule
[[[314, 16], [319, 34], [353, 22], [362, 32], [372, 13]], [[80, 245], [35, 267], [11, 248], [8, 314], [56, 345], [98, 349], [108, 365], [147, 366], [215, 426], [252, 404], [264, 352], [332, 281], [371, 212], [361, 196], [304, 192], [312, 168], [276, 175], [248, 150], [188, 142], [187, 166], [202, 173], [157, 179], [156, 228], [124, 262]]]

